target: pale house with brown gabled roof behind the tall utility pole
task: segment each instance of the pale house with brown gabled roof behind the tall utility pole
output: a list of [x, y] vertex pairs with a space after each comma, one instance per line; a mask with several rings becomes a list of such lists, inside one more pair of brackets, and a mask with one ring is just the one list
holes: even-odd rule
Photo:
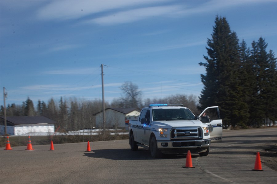
[[[125, 119], [136, 119], [139, 116], [139, 108], [106, 108], [106, 128], [126, 128]], [[93, 114], [97, 128], [103, 128], [103, 111]]]

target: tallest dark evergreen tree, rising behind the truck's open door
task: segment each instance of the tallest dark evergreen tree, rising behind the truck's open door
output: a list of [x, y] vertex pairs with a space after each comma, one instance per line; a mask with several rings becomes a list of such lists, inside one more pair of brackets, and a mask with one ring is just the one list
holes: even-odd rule
[[207, 41], [208, 56], [204, 56], [207, 62], [199, 63], [206, 69], [206, 75], [201, 75], [204, 89], [199, 97], [199, 108], [219, 105], [223, 124], [235, 126], [241, 121], [243, 110], [240, 107], [244, 105], [238, 80], [239, 40], [225, 17], [216, 17], [213, 31]]

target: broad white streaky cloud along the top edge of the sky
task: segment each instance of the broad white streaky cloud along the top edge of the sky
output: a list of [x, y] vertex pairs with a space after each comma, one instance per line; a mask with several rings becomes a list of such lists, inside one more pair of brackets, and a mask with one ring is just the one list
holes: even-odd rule
[[[171, 5], [160, 6], [161, 3]], [[259, 3], [260, 1], [255, 1]], [[262, 2], [262, 1], [261, 1]], [[100, 17], [84, 20], [85, 24], [115, 25], [130, 23], [151, 17], [180, 17], [205, 12], [214, 12], [223, 8], [242, 6], [253, 3], [252, 1], [51, 1], [37, 11], [41, 20], [65, 21], [86, 18], [92, 15]], [[159, 5], [160, 4], [160, 5]], [[172, 5], [175, 4], [175, 5]], [[156, 5], [156, 6], [155, 6]], [[126, 11], [125, 8], [130, 10]], [[97, 14], [97, 15], [96, 15]]]

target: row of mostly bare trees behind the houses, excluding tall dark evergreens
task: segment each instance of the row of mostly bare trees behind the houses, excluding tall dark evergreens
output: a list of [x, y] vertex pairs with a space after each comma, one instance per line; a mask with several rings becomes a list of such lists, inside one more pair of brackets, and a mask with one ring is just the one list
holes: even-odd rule
[[[124, 90], [122, 87], [125, 86]], [[120, 87], [125, 92], [136, 91], [141, 94], [136, 84], [125, 82]], [[130, 94], [130, 93], [128, 93]], [[131, 99], [132, 98], [132, 99]], [[131, 99], [131, 100], [130, 100]], [[128, 103], [129, 102], [129, 103]], [[191, 110], [198, 113], [196, 108], [198, 99], [195, 95], [176, 94], [167, 98], [154, 98], [142, 100], [138, 96], [130, 97], [124, 95], [122, 98], [114, 99], [111, 103], [106, 102], [105, 107], [118, 108], [143, 108], [151, 103], [183, 103]], [[55, 128], [58, 132], [76, 131], [86, 128], [102, 128], [96, 127], [95, 116], [93, 114], [102, 111], [102, 100], [84, 100], [78, 98], [64, 99], [60, 97], [58, 101], [51, 98], [48, 102], [38, 100], [34, 105], [33, 101], [28, 97], [22, 105], [8, 104], [6, 107], [6, 115], [9, 116], [45, 116], [57, 122]], [[1, 106], [1, 116], [4, 115], [4, 107]], [[112, 121], [112, 120], [107, 120]], [[106, 122], [112, 125], [114, 122]], [[110, 128], [110, 127], [106, 127]]]

